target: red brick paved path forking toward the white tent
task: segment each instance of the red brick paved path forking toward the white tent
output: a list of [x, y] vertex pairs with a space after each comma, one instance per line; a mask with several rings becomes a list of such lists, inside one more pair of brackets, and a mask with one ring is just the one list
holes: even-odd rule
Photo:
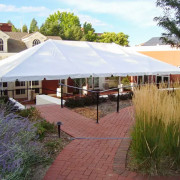
[[[58, 105], [37, 108], [47, 121], [63, 122], [62, 130], [73, 137], [128, 137], [133, 119], [132, 107], [103, 117], [99, 124]], [[125, 170], [128, 147], [129, 140], [122, 139], [73, 140], [58, 155], [44, 180], [142, 179], [136, 173]]]

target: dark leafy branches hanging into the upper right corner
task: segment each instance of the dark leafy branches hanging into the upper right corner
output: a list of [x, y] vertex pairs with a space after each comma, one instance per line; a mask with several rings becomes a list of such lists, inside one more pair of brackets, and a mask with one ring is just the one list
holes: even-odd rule
[[156, 6], [164, 11], [163, 16], [154, 18], [158, 26], [166, 30], [162, 33], [162, 41], [171, 46], [180, 47], [180, 1], [157, 0]]

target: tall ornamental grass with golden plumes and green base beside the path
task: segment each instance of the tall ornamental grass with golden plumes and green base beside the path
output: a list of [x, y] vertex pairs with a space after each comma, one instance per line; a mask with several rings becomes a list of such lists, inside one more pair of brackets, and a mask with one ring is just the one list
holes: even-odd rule
[[168, 174], [180, 167], [180, 90], [145, 86], [134, 91], [135, 125], [131, 154], [137, 169]]

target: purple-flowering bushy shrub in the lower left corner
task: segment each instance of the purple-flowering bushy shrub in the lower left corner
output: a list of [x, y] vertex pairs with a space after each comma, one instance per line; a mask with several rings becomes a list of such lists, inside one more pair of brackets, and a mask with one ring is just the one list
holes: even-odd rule
[[0, 109], [0, 179], [26, 179], [31, 167], [49, 160], [27, 118]]

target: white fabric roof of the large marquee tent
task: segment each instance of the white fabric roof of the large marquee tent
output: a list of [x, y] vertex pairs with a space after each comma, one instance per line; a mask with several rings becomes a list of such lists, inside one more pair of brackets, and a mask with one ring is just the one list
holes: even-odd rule
[[0, 81], [180, 74], [172, 65], [110, 43], [48, 40], [0, 61]]

